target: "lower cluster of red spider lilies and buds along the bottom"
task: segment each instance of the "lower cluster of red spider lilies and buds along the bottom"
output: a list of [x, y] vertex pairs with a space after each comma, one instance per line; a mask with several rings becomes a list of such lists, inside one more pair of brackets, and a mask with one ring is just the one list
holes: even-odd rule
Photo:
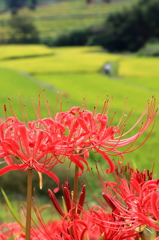
[[[49, 197], [61, 219], [45, 224], [40, 210], [34, 207], [39, 225], [31, 228], [31, 240], [140, 240], [147, 239], [141, 238], [146, 229], [159, 230], [159, 180], [154, 180], [151, 172], [142, 173], [129, 165], [120, 169], [116, 166], [115, 182], [104, 182], [101, 175], [99, 179], [103, 201], [98, 196], [101, 206], [88, 210], [84, 208], [84, 185], [79, 200], [74, 202], [70, 186], [65, 182], [63, 207], [49, 190]], [[25, 234], [16, 223], [3, 224], [0, 237], [2, 240], [7, 237], [24, 240]]]

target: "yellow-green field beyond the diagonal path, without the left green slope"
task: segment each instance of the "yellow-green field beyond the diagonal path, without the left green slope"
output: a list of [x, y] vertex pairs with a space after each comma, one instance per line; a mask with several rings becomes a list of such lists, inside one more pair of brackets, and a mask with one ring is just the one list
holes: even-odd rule
[[[115, 62], [118, 65], [118, 75], [107, 78], [103, 74], [106, 62]], [[121, 104], [128, 95], [128, 106], [136, 107], [138, 113], [151, 95], [158, 95], [158, 64], [158, 58], [113, 55], [105, 53], [100, 47], [0, 47], [1, 71], [7, 74], [6, 69], [10, 69], [8, 76], [12, 75], [12, 82], [14, 75], [29, 79], [26, 80], [28, 85], [36, 85], [38, 81], [42, 81], [39, 85], [46, 86], [48, 91], [52, 86], [55, 90], [67, 93], [69, 99], [66, 100], [69, 101], [79, 103], [87, 95], [90, 106], [95, 103], [98, 95], [101, 106], [106, 94], [109, 94], [115, 98], [114, 105], [117, 109], [121, 109]], [[31, 89], [34, 91], [33, 87]]]

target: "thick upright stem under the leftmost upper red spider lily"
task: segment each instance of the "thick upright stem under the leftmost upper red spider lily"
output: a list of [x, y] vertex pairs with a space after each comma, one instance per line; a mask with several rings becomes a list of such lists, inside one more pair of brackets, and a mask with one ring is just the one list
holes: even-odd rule
[[26, 240], [30, 240], [30, 230], [31, 230], [31, 203], [32, 203], [32, 169], [28, 169]]

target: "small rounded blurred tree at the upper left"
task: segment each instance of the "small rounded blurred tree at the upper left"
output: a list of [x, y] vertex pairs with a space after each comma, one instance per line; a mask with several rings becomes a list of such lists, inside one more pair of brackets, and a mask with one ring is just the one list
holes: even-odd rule
[[39, 33], [28, 16], [13, 16], [9, 20], [9, 43], [38, 43]]

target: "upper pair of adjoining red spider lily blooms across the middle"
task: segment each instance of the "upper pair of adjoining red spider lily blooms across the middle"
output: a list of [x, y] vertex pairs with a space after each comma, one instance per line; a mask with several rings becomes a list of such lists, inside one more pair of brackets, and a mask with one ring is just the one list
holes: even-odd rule
[[[146, 121], [138, 133], [125, 138], [145, 115]], [[57, 113], [55, 120], [45, 118], [28, 122], [27, 125], [16, 117], [7, 118], [0, 124], [0, 157], [4, 157], [7, 163], [0, 170], [0, 175], [12, 170], [35, 169], [46, 173], [59, 185], [59, 179], [51, 171], [54, 166], [67, 157], [83, 172], [84, 164], [87, 169], [89, 167], [87, 159], [90, 150], [103, 156], [110, 166], [107, 173], [111, 173], [114, 171], [114, 163], [109, 156], [119, 155], [123, 158], [124, 153], [135, 150], [132, 149], [134, 143], [155, 116], [155, 99], [152, 98], [135, 125], [121, 134], [123, 124], [121, 127], [108, 126], [107, 115], [81, 111], [79, 107]], [[127, 149], [123, 149], [125, 146], [128, 146]]]

